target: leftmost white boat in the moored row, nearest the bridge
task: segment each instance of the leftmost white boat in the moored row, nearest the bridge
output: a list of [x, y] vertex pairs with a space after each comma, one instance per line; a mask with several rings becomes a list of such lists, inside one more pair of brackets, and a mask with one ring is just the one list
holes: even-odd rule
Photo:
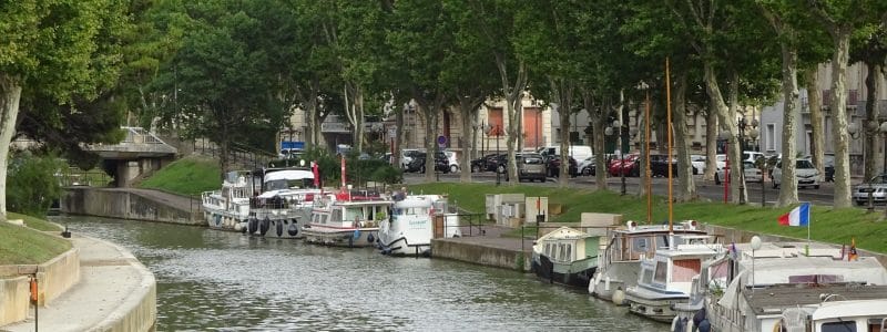
[[201, 194], [203, 217], [210, 228], [243, 231], [249, 217], [253, 175], [247, 170], [228, 172], [222, 189]]

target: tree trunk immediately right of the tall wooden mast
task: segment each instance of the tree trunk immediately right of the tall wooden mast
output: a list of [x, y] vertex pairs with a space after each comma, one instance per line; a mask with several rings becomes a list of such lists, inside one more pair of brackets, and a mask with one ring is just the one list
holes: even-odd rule
[[[677, 149], [677, 199], [682, 201], [697, 198], [696, 185], [693, 181], [693, 164], [690, 163], [689, 146], [686, 144], [686, 87], [687, 70], [684, 65], [675, 65], [674, 102], [672, 112], [674, 128], [674, 147]], [[672, 154], [674, 157], [674, 154]]]

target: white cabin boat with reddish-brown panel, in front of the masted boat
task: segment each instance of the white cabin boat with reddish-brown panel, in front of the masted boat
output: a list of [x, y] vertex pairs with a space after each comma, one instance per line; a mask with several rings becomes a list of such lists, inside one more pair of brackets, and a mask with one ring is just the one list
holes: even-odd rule
[[671, 322], [673, 305], [690, 299], [693, 279], [699, 278], [703, 261], [725, 252], [720, 243], [677, 245], [660, 248], [641, 259], [638, 283], [625, 289], [629, 311], [655, 321]]

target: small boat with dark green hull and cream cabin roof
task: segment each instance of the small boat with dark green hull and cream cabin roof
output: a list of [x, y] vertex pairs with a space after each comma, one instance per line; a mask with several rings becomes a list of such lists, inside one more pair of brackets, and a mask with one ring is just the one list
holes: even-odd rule
[[570, 227], [558, 228], [536, 240], [530, 270], [550, 283], [587, 288], [598, 269], [600, 238]]

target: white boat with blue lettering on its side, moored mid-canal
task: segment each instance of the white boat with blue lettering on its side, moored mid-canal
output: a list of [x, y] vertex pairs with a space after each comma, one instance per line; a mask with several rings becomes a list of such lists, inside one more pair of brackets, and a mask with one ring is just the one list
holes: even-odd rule
[[379, 225], [377, 245], [385, 255], [429, 256], [432, 238], [460, 236], [459, 216], [448, 212], [446, 197], [399, 194], [391, 218]]

